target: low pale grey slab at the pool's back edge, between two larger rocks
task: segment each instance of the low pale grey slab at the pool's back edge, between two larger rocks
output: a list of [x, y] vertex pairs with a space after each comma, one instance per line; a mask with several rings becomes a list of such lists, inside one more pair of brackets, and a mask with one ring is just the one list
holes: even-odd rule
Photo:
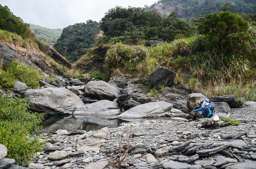
[[77, 107], [73, 115], [110, 115], [120, 113], [118, 103], [109, 100], [100, 100], [95, 103]]

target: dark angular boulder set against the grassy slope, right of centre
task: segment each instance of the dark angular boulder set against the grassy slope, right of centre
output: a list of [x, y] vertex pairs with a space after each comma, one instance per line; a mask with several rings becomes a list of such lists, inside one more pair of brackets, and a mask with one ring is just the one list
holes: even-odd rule
[[175, 73], [172, 70], [159, 66], [149, 76], [150, 82], [154, 87], [160, 87], [161, 85], [172, 86], [174, 84]]

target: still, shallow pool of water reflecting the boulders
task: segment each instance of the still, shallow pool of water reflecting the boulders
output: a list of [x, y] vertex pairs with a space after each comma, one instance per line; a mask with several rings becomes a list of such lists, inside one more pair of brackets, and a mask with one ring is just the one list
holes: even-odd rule
[[49, 133], [59, 129], [74, 130], [81, 129], [85, 131], [95, 131], [103, 127], [116, 128], [118, 124], [125, 122], [116, 118], [117, 115], [72, 115], [72, 116], [49, 116], [45, 117], [41, 124], [43, 129], [38, 132]]

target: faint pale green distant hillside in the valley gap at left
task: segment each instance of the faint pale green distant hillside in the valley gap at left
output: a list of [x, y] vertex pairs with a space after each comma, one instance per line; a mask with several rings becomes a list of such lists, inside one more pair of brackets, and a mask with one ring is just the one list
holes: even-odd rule
[[36, 33], [36, 38], [53, 46], [60, 38], [62, 29], [49, 29], [39, 25], [29, 24], [32, 31]]

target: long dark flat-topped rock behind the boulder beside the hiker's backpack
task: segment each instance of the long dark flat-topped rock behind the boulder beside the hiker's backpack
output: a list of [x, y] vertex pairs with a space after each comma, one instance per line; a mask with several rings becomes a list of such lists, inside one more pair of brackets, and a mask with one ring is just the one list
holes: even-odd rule
[[215, 96], [209, 99], [210, 102], [226, 102], [230, 108], [241, 108], [242, 105], [236, 102], [237, 97], [235, 95]]

